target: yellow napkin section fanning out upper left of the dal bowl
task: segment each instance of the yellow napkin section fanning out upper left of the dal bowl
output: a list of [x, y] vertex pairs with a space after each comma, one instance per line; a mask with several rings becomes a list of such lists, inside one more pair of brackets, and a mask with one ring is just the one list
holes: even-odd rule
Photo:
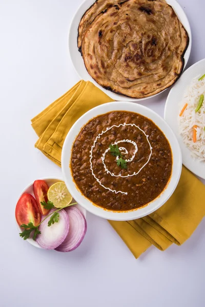
[[79, 81], [31, 120], [39, 137], [35, 147], [60, 166], [63, 143], [74, 122], [89, 109], [111, 101], [93, 83]]

